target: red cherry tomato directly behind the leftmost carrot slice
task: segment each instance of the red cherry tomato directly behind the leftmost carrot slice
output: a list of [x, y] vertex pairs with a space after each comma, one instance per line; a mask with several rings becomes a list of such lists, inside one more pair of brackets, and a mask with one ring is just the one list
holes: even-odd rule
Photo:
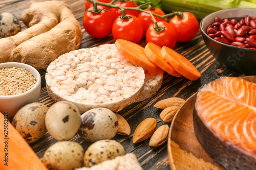
[[115, 40], [125, 39], [134, 43], [139, 43], [143, 37], [143, 26], [140, 20], [134, 15], [129, 19], [123, 20], [116, 18], [112, 27], [112, 35]]

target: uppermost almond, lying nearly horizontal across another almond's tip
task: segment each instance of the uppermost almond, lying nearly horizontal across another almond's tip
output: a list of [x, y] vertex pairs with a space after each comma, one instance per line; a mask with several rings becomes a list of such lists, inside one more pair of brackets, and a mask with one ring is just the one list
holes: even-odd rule
[[157, 102], [154, 107], [159, 108], [159, 109], [166, 109], [167, 107], [170, 106], [179, 106], [181, 107], [184, 104], [185, 100], [181, 98], [168, 98], [161, 100]]

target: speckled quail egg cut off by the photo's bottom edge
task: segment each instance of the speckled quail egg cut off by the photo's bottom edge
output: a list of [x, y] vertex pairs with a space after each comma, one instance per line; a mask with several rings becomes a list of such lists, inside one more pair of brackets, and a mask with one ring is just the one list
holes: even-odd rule
[[52, 170], [72, 170], [82, 166], [84, 150], [74, 141], [58, 141], [49, 147], [42, 163]]

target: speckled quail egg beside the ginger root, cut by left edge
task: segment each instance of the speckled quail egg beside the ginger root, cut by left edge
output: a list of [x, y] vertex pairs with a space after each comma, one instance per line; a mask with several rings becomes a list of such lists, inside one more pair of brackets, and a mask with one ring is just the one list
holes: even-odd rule
[[11, 13], [0, 14], [0, 37], [9, 37], [22, 31], [19, 20]]

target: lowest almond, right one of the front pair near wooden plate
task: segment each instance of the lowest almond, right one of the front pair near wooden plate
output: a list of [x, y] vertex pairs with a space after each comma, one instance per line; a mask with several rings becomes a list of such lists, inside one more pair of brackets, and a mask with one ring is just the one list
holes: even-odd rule
[[168, 138], [169, 126], [162, 125], [160, 126], [152, 135], [150, 139], [151, 147], [159, 147], [161, 146]]

